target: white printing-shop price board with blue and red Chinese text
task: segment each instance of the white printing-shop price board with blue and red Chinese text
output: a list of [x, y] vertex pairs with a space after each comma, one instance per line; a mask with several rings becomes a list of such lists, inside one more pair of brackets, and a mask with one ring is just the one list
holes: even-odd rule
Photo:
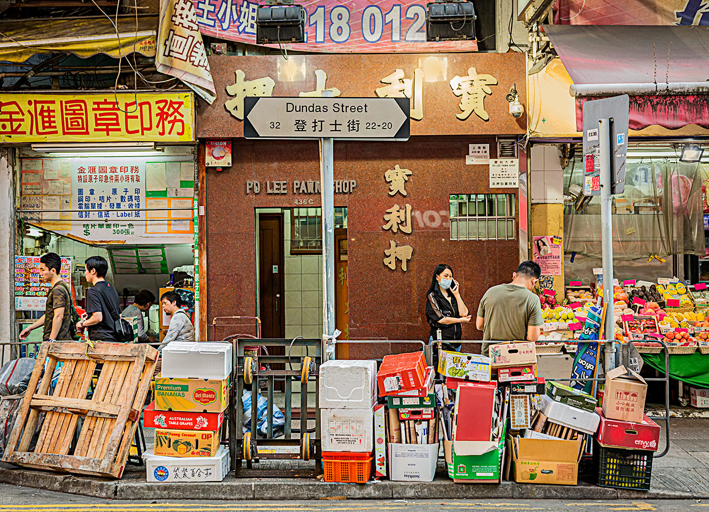
[[94, 243], [192, 243], [194, 162], [172, 158], [22, 158], [22, 216]]

